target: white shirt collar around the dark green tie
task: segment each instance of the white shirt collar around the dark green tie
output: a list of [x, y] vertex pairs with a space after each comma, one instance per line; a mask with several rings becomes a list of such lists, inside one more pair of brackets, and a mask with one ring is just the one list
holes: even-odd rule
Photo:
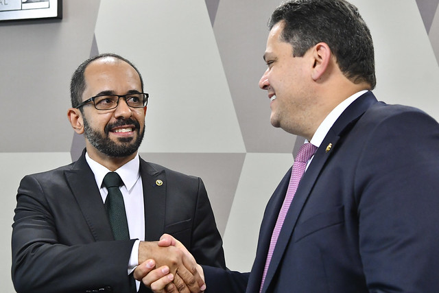
[[[88, 153], [85, 153], [85, 159], [90, 166], [91, 171], [93, 174], [95, 174], [95, 180], [97, 183], [97, 186], [99, 188], [102, 188], [102, 181], [104, 180], [104, 177], [108, 172], [111, 172], [109, 169], [104, 167], [103, 165], [97, 163], [97, 161], [94, 161], [91, 159], [90, 156], [88, 156]], [[139, 180], [140, 177], [140, 159], [139, 154], [134, 156], [134, 159], [126, 163], [125, 165], [122, 165], [119, 167], [119, 169], [115, 170], [119, 176], [121, 176], [121, 179], [123, 181], [123, 185], [126, 186], [128, 191], [134, 187], [134, 184]]]

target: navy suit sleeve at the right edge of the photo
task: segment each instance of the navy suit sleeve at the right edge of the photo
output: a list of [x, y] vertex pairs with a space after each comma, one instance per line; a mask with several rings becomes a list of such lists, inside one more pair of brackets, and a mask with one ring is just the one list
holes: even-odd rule
[[368, 290], [437, 292], [439, 126], [413, 111], [365, 135], [354, 186]]

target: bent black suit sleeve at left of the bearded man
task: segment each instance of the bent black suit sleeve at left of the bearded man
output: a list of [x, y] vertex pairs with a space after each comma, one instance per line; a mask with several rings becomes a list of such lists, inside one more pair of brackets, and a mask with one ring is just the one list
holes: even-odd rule
[[35, 176], [21, 180], [16, 199], [12, 281], [17, 292], [110, 288], [113, 292], [127, 292], [128, 259], [134, 240], [61, 244], [51, 205]]

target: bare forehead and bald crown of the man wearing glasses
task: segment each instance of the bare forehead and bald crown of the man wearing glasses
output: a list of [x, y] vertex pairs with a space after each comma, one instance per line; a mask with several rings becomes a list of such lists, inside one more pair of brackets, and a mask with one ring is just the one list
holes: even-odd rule
[[86, 90], [98, 88], [101, 91], [117, 91], [124, 87], [141, 90], [137, 71], [127, 62], [114, 57], [99, 58], [91, 62], [84, 71], [84, 80]]

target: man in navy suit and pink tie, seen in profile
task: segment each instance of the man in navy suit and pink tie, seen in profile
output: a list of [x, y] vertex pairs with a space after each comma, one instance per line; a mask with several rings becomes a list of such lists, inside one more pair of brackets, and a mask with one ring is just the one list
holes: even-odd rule
[[[317, 151], [269, 264], [291, 169], [265, 209], [250, 274], [203, 266], [206, 292], [439, 292], [439, 125], [377, 101], [372, 38], [357, 8], [283, 3], [264, 60], [259, 86], [272, 125]], [[174, 242], [165, 238], [161, 245]], [[159, 277], [153, 271], [145, 283]]]

